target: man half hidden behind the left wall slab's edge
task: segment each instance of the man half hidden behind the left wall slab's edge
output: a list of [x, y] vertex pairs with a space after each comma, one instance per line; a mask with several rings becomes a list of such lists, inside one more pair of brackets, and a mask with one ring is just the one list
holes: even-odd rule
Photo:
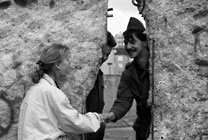
[[[102, 64], [108, 59], [112, 48], [116, 46], [116, 41], [110, 32], [107, 32], [107, 44], [102, 47]], [[101, 65], [102, 65], [101, 64]], [[99, 69], [97, 79], [93, 89], [90, 91], [86, 100], [87, 112], [102, 113], [104, 107], [104, 80], [103, 72]], [[87, 140], [103, 140], [105, 125], [101, 124], [101, 128], [96, 133], [87, 134]]]

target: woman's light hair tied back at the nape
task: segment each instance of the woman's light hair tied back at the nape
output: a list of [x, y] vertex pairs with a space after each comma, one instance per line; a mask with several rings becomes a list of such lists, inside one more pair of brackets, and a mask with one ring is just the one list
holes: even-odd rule
[[68, 47], [61, 44], [52, 44], [45, 47], [41, 53], [40, 60], [36, 63], [37, 67], [32, 74], [32, 81], [38, 83], [44, 73], [50, 73], [54, 64], [63, 60], [67, 50]]

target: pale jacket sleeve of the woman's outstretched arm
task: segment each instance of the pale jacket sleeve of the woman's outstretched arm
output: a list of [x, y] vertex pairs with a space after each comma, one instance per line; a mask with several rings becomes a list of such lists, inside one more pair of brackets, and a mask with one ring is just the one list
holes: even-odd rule
[[49, 98], [58, 127], [65, 133], [83, 134], [96, 132], [100, 128], [100, 117], [97, 113], [80, 114], [60, 90], [59, 93], [50, 94]]

